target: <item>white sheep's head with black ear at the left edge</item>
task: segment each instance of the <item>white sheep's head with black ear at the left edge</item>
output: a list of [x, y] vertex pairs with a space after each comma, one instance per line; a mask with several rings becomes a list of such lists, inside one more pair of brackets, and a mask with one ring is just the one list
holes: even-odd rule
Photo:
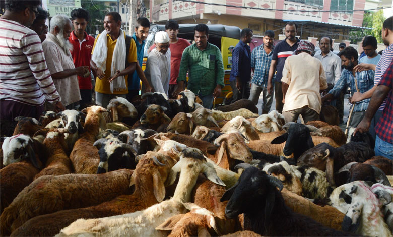
[[34, 152], [34, 141], [30, 136], [18, 134], [12, 137], [2, 137], [3, 142], [3, 164], [7, 166], [12, 163], [29, 160], [34, 167], [42, 169], [42, 163]]

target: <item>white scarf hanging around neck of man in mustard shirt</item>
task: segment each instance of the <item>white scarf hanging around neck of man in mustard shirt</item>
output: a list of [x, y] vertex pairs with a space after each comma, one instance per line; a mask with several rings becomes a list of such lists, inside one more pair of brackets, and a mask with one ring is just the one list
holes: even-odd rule
[[[125, 68], [125, 32], [120, 29], [120, 35], [117, 38], [117, 42], [115, 48], [113, 50], [112, 55], [112, 64], [110, 66], [110, 75], [113, 76], [116, 73], [116, 69], [119, 71], [123, 71]], [[98, 68], [105, 73], [106, 70], [106, 57], [108, 54], [108, 48], [106, 46], [107, 38], [106, 38], [106, 30], [102, 31], [100, 36], [97, 39], [96, 46], [94, 48], [94, 52], [92, 55], [93, 62], [97, 65]], [[110, 82], [110, 92], [113, 93], [113, 90], [121, 90], [127, 89], [125, 86], [125, 78], [124, 76], [119, 76], [113, 81]]]

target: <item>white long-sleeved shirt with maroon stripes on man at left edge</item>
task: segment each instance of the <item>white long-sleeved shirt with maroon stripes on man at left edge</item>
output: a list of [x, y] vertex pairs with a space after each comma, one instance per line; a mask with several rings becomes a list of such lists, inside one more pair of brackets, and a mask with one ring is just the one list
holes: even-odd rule
[[0, 18], [0, 99], [41, 106], [60, 99], [46, 66], [38, 35]]

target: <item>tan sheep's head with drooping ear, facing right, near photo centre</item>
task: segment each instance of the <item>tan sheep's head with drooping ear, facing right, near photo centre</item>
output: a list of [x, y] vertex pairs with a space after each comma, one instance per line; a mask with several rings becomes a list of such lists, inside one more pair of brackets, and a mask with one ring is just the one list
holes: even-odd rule
[[224, 152], [227, 152], [228, 158], [241, 160], [246, 163], [250, 163], [252, 160], [252, 154], [240, 133], [223, 134], [216, 139], [214, 144], [220, 146], [217, 164], [221, 162]]

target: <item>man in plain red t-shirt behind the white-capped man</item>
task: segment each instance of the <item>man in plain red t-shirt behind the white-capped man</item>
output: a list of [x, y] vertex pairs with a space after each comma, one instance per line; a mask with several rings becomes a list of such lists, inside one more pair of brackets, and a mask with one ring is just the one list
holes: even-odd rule
[[169, 82], [169, 98], [175, 99], [173, 96], [177, 88], [177, 77], [179, 76], [179, 68], [181, 56], [186, 47], [191, 44], [186, 39], [178, 38], [179, 24], [175, 20], [169, 20], [165, 23], [165, 31], [169, 35], [169, 49], [171, 51], [171, 78]]

